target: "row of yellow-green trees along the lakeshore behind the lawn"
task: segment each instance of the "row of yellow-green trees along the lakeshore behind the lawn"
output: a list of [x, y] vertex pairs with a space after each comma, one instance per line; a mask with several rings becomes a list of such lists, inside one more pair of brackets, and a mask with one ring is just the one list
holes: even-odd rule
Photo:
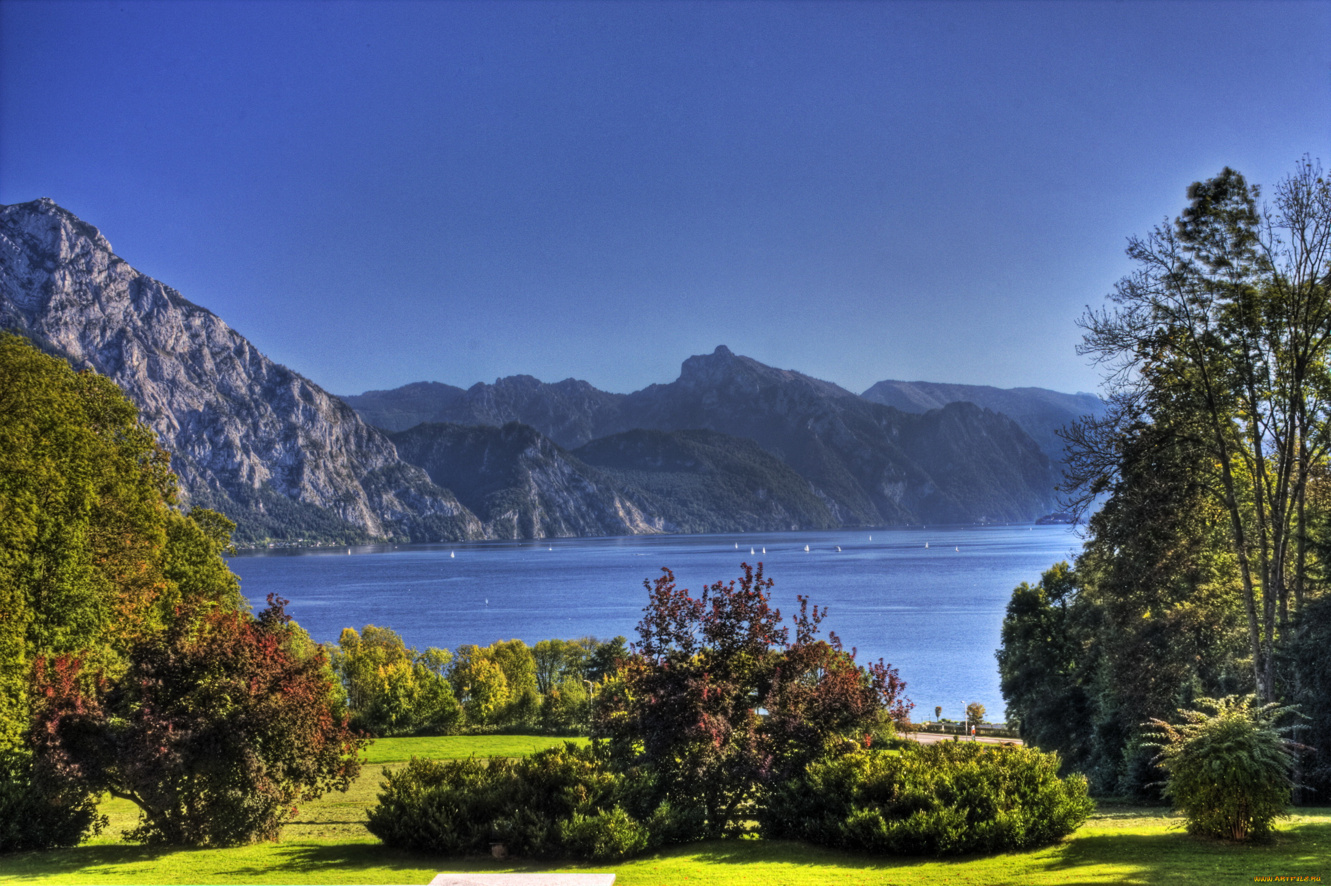
[[584, 734], [591, 698], [628, 649], [599, 641], [500, 640], [457, 653], [409, 648], [390, 628], [347, 628], [333, 651], [351, 725], [371, 736], [535, 729]]

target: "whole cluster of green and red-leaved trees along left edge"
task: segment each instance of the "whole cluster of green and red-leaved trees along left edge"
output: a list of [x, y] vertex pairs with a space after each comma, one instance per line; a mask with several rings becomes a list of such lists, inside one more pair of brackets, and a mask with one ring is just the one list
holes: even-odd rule
[[108, 379], [0, 335], [0, 851], [77, 842], [109, 792], [141, 841], [273, 837], [363, 745], [323, 651], [252, 615], [233, 524]]

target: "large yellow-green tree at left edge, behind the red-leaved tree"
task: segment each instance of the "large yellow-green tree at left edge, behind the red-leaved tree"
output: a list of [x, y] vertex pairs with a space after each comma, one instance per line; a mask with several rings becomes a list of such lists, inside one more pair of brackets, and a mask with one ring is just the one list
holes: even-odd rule
[[176, 478], [106, 378], [0, 334], [0, 851], [77, 842], [80, 780], [33, 770], [33, 665], [77, 656], [116, 678], [182, 608], [242, 605], [222, 515], [174, 506]]

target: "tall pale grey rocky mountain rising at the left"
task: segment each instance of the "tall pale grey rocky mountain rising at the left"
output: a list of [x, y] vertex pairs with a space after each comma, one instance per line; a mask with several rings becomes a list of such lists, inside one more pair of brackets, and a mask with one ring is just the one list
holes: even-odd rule
[[114, 380], [170, 451], [184, 496], [236, 519], [241, 540], [483, 532], [350, 407], [49, 200], [0, 208], [0, 327]]

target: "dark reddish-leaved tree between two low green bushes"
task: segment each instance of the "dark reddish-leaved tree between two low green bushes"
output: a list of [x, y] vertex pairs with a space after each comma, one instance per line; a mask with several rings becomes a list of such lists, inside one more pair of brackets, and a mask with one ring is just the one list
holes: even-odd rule
[[862, 746], [885, 712], [909, 710], [893, 669], [817, 639], [824, 612], [807, 601], [791, 643], [763, 565], [743, 569], [699, 597], [669, 569], [646, 583], [639, 641], [595, 710], [616, 765], [639, 769], [695, 837], [735, 829], [764, 784], [829, 745]]

